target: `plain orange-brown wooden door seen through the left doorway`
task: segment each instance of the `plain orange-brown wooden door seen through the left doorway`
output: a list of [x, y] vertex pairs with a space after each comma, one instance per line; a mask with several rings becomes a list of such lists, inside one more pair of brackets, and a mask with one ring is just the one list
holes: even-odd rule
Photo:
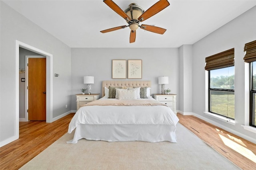
[[46, 120], [46, 58], [28, 58], [28, 120]]

